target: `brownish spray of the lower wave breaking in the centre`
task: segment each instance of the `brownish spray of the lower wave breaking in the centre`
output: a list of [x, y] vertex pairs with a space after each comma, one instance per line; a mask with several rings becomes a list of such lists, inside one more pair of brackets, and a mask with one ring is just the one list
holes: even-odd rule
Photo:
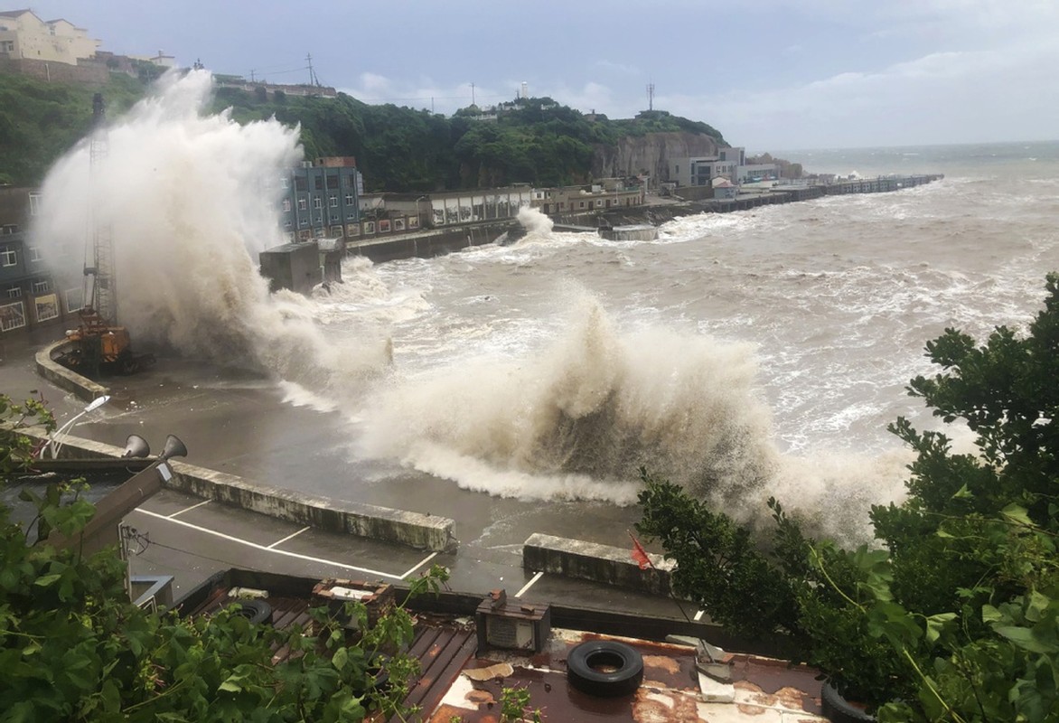
[[[664, 329], [623, 336], [591, 295], [563, 301], [566, 331], [528, 358], [465, 359], [380, 388], [366, 404], [362, 452], [474, 487], [483, 483], [459, 460], [475, 460], [475, 473], [485, 463], [553, 483], [571, 475], [563, 498], [620, 503], [625, 488], [618, 500], [607, 484], [644, 465], [728, 508], [756, 501], [777, 457], [768, 409], [752, 390], [752, 350]], [[442, 469], [441, 456], [456, 467]], [[607, 484], [578, 488], [585, 480]], [[546, 499], [555, 485], [544, 487], [503, 493]]]

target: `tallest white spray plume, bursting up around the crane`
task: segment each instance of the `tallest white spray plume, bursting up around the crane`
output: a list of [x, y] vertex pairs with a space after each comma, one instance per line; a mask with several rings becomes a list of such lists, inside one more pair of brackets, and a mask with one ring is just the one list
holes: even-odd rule
[[56, 276], [73, 279], [82, 249], [91, 258], [91, 228], [107, 230], [118, 322], [139, 348], [343, 391], [384, 363], [384, 340], [336, 348], [310, 300], [270, 295], [257, 271], [257, 253], [284, 240], [280, 178], [302, 158], [299, 130], [208, 114], [211, 92], [204, 71], [166, 74], [154, 94], [96, 131], [105, 155], [90, 162], [85, 142], [55, 164], [31, 233]]

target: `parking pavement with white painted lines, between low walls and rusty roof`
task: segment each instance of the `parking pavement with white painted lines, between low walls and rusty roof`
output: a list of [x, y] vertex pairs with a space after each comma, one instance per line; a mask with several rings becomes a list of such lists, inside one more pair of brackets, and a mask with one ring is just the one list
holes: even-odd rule
[[523, 570], [521, 549], [495, 549], [486, 559], [459, 549], [430, 553], [323, 532], [173, 490], [147, 500], [125, 524], [136, 530], [130, 572], [172, 575], [174, 598], [230, 567], [396, 582], [441, 564], [451, 572], [449, 588], [460, 592], [484, 596], [503, 588], [511, 596], [566, 605], [675, 619], [695, 614], [671, 598]]

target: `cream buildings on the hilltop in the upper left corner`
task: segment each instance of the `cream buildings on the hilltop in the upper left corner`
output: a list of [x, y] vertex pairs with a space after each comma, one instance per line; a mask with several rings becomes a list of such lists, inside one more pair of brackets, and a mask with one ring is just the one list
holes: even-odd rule
[[61, 18], [44, 21], [30, 10], [0, 12], [0, 56], [76, 66], [98, 47], [88, 31]]

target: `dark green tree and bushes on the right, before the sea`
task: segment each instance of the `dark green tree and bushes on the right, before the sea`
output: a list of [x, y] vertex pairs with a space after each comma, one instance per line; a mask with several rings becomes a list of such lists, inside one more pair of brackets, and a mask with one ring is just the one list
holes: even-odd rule
[[908, 498], [870, 511], [879, 548], [802, 535], [770, 501], [772, 540], [645, 475], [638, 528], [677, 560], [678, 592], [721, 625], [791, 635], [840, 691], [881, 721], [1059, 718], [1059, 274], [1024, 335], [979, 346], [947, 329], [927, 344], [941, 370], [912, 380], [975, 454], [905, 419]]

